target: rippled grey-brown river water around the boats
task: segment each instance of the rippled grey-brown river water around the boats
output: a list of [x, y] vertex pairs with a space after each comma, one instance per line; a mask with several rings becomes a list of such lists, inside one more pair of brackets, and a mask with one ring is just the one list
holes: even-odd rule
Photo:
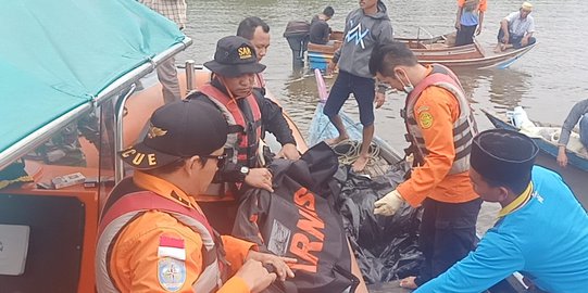
[[[414, 37], [423, 27], [437, 36], [453, 31], [456, 4], [454, 0], [384, 0], [396, 36]], [[481, 35], [485, 48], [496, 44], [499, 22], [510, 12], [517, 11], [522, 0], [488, 0]], [[473, 69], [456, 72], [465, 91], [472, 99], [480, 130], [490, 123], [479, 111], [504, 113], [516, 105], [523, 106], [531, 119], [562, 124], [575, 102], [587, 99], [588, 30], [583, 18], [588, 5], [581, 0], [536, 0], [531, 15], [536, 22], [538, 46], [506, 69]], [[308, 135], [310, 120], [317, 102], [312, 75], [292, 74], [291, 51], [282, 36], [292, 20], [309, 20], [331, 5], [335, 15], [329, 22], [335, 30], [342, 30], [347, 14], [359, 7], [359, 1], [331, 0], [188, 0], [186, 35], [193, 44], [178, 60], [192, 59], [201, 64], [212, 59], [216, 40], [234, 35], [246, 16], [259, 16], [271, 27], [272, 44], [262, 60], [267, 65], [267, 87], [282, 105]], [[330, 80], [333, 82], [333, 80]], [[404, 94], [389, 93], [387, 103], [376, 111], [376, 135], [401, 150], [404, 128], [399, 110]], [[355, 101], [350, 99], [346, 113], [358, 117]], [[497, 209], [486, 208], [486, 225], [492, 221]], [[483, 213], [484, 214], [484, 213]], [[484, 215], [483, 215], [484, 216]], [[485, 230], [484, 228], [481, 230]]]

